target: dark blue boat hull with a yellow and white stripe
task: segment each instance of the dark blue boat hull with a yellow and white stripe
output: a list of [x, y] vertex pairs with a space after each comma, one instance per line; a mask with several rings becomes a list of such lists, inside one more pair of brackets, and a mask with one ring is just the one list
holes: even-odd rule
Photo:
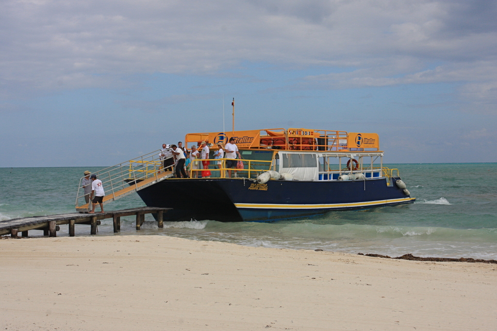
[[169, 221], [271, 221], [414, 202], [394, 184], [397, 179], [390, 185], [384, 178], [266, 184], [247, 179], [168, 179], [138, 195], [148, 206], [173, 208], [164, 215]]

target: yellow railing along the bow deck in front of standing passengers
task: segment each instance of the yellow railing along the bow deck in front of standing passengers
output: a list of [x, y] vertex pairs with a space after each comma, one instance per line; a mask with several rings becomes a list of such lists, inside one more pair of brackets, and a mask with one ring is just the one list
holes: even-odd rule
[[[226, 161], [239, 161], [238, 159], [206, 159], [206, 160], [195, 160], [194, 162], [198, 162], [199, 168], [200, 165], [202, 164], [202, 161], [209, 161], [209, 166], [219, 166], [217, 164], [218, 161], [221, 160], [221, 168], [211, 168], [209, 167], [208, 169], [193, 169], [193, 164], [190, 163], [190, 174], [189, 177], [193, 178], [193, 175], [200, 171], [210, 171], [212, 173], [218, 173], [219, 176], [216, 176], [216, 178], [230, 178], [228, 176], [229, 172], [232, 173], [232, 178], [235, 176], [235, 173], [237, 173], [237, 177], [245, 177], [245, 176], [240, 176], [240, 173], [245, 174], [247, 173], [247, 178], [256, 178], [257, 175], [261, 172], [265, 172], [268, 170], [271, 170], [271, 163], [272, 161], [263, 161], [263, 160], [243, 160], [242, 162], [244, 163], [244, 169], [238, 169], [238, 168], [227, 168], [226, 167]], [[210, 161], [215, 161], [214, 164], [210, 164]], [[262, 164], [259, 164], [262, 163]], [[264, 167], [267, 165], [266, 169], [255, 169], [254, 167]]]

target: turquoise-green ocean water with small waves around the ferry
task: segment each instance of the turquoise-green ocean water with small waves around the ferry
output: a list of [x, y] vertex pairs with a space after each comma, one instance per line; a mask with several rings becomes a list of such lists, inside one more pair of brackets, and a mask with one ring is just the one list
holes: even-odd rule
[[[368, 210], [333, 211], [321, 216], [270, 223], [216, 221], [167, 222], [159, 229], [147, 215], [142, 230], [135, 218], [121, 218], [114, 234], [103, 220], [97, 236], [164, 235], [246, 246], [323, 249], [421, 257], [497, 260], [497, 163], [390, 164], [398, 168], [414, 204]], [[74, 212], [84, 170], [101, 168], [0, 168], [0, 220]], [[143, 206], [137, 194], [105, 205], [107, 210]], [[96, 208], [99, 210], [99, 207]], [[89, 236], [77, 225], [76, 236]], [[30, 231], [29, 236], [42, 236]], [[61, 226], [58, 236], [68, 236]]]

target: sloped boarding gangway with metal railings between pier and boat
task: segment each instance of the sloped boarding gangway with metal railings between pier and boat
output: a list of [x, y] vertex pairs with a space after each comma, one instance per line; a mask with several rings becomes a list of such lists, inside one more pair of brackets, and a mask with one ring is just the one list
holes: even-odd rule
[[[103, 204], [126, 197], [134, 192], [154, 185], [166, 178], [172, 177], [172, 166], [163, 169], [164, 160], [159, 156], [160, 150], [142, 155], [114, 166], [99, 170], [94, 175], [102, 181], [105, 196]], [[172, 157], [171, 157], [172, 158]], [[76, 196], [76, 211], [88, 211], [83, 190], [83, 178], [80, 179], [78, 194]]]

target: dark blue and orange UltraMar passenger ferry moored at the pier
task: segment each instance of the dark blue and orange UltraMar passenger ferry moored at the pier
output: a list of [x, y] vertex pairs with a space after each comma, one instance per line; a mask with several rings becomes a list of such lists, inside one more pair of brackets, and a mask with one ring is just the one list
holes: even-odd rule
[[[232, 169], [230, 178], [228, 159], [218, 169], [213, 153], [232, 137], [243, 169]], [[376, 133], [263, 129], [185, 136], [188, 147], [201, 141], [210, 148], [209, 178], [192, 178], [207, 169], [191, 169], [190, 178], [137, 191], [147, 206], [173, 208], [165, 220], [272, 221], [415, 201], [399, 170], [383, 166]], [[274, 179], [264, 181], [271, 171]]]

